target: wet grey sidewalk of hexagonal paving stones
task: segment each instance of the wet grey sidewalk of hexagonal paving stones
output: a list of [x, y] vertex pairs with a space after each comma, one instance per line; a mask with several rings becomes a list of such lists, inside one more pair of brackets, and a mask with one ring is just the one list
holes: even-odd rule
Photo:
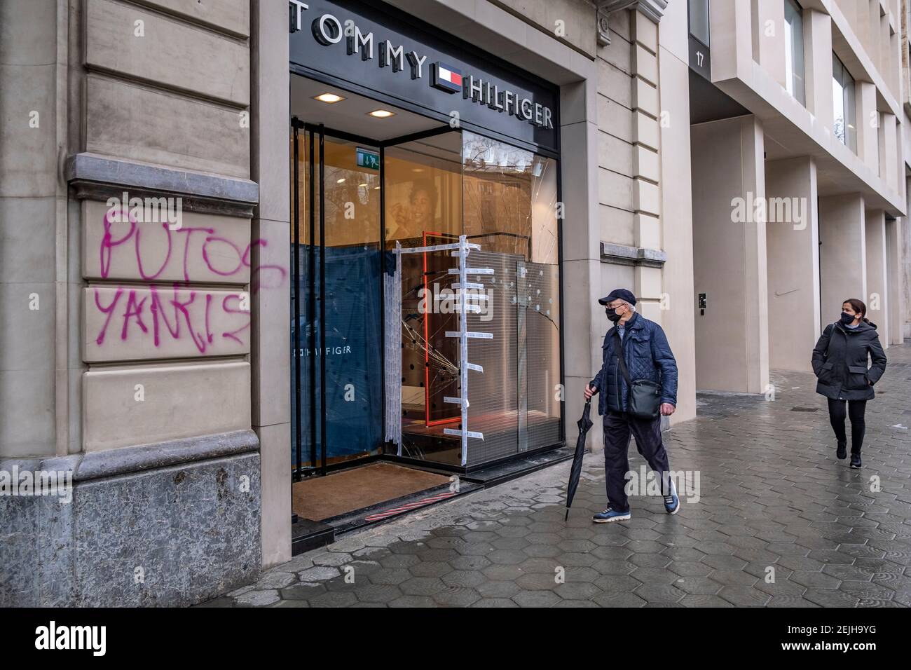
[[593, 524], [604, 469], [588, 454], [569, 521], [563, 463], [345, 535], [203, 606], [911, 606], [911, 345], [886, 355], [861, 470], [835, 459], [814, 377], [773, 373], [774, 400], [700, 394], [699, 417], [665, 433], [671, 469], [700, 476], [676, 516], [643, 496], [631, 521]]

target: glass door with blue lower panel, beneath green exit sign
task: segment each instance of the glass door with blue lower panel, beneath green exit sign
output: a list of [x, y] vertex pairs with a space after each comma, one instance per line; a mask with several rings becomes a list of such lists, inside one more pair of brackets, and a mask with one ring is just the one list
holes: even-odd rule
[[380, 452], [383, 333], [379, 150], [292, 129], [295, 479]]

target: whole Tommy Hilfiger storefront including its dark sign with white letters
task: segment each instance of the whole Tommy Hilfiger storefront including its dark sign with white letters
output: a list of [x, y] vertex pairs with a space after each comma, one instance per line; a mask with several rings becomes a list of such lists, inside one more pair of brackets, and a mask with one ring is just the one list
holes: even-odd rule
[[386, 5], [290, 28], [300, 539], [562, 458], [562, 203], [557, 87]]

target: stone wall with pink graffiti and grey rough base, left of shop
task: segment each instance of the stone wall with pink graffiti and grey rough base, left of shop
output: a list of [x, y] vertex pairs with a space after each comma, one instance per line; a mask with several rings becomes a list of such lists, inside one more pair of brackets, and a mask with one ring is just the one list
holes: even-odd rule
[[2, 5], [0, 469], [73, 476], [2, 500], [4, 603], [188, 604], [261, 568], [252, 321], [288, 264], [286, 222], [252, 232], [260, 5]]

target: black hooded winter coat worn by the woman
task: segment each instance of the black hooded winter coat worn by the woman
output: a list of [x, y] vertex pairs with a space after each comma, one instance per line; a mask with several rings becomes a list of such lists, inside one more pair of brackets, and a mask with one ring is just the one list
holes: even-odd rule
[[[867, 356], [873, 366], [867, 369]], [[841, 322], [825, 326], [813, 350], [816, 393], [833, 400], [872, 400], [873, 385], [885, 372], [883, 345], [876, 325], [862, 321], [856, 328]]]

